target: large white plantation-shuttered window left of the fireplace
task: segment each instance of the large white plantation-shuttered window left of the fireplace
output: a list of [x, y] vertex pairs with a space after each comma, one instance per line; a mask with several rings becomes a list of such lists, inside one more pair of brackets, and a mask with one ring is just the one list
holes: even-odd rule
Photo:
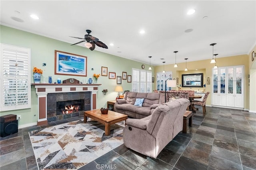
[[30, 49], [1, 44], [0, 65], [0, 111], [30, 108]]

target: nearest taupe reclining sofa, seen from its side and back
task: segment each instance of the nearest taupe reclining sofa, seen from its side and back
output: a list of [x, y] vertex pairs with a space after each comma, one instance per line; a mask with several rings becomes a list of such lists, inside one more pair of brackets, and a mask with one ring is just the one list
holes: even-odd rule
[[161, 150], [180, 132], [188, 99], [176, 99], [154, 109], [143, 119], [127, 119], [124, 127], [126, 147], [156, 158]]

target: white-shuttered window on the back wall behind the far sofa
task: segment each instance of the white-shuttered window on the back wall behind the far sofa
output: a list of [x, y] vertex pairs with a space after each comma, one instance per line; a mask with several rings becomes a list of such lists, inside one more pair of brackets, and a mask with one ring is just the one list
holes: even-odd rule
[[152, 92], [152, 72], [132, 69], [132, 91], [141, 93]]

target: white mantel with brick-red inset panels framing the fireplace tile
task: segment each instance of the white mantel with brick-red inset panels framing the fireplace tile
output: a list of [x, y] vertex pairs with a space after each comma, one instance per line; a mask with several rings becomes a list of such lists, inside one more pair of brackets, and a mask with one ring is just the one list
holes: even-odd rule
[[36, 88], [38, 98], [38, 122], [37, 125], [47, 124], [47, 94], [48, 93], [72, 93], [91, 92], [91, 108], [96, 109], [98, 87], [101, 84], [48, 84], [32, 83]]

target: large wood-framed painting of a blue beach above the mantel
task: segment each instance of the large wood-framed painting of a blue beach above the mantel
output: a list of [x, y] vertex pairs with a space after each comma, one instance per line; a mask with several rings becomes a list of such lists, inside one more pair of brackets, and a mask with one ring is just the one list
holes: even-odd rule
[[55, 50], [54, 74], [87, 76], [87, 57]]

